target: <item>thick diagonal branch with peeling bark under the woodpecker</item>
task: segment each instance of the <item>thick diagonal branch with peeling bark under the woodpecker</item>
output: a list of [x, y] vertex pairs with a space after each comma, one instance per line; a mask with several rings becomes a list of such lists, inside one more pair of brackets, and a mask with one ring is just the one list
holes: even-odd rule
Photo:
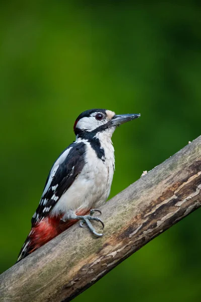
[[70, 301], [200, 207], [200, 191], [201, 136], [100, 208], [102, 238], [76, 223], [4, 272], [1, 301]]

